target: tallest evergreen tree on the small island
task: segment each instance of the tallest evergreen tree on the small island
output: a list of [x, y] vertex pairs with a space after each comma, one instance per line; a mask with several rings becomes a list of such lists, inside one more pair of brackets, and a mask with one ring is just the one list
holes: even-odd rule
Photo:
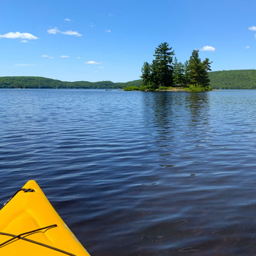
[[155, 49], [155, 60], [153, 65], [157, 66], [158, 86], [172, 86], [173, 84], [173, 66], [172, 59], [174, 51], [171, 51], [168, 43], [161, 43]]

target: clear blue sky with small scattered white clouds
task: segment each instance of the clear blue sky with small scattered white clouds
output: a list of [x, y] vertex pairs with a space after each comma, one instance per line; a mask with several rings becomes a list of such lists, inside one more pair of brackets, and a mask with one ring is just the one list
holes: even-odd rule
[[216, 70], [256, 69], [256, 1], [0, 0], [0, 76], [127, 82], [169, 43]]

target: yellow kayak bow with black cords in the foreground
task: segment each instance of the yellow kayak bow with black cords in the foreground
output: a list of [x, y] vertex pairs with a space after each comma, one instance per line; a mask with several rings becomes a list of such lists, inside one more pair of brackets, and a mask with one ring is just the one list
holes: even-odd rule
[[90, 256], [34, 180], [0, 210], [0, 255]]

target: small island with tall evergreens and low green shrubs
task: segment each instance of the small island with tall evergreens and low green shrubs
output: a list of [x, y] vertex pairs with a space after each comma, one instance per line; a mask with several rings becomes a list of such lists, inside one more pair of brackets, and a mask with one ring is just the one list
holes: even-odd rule
[[172, 47], [161, 43], [156, 47], [151, 64], [144, 62], [141, 68], [142, 83], [140, 87], [127, 86], [125, 91], [211, 91], [209, 59], [203, 62], [199, 58], [199, 50], [193, 50], [190, 59], [184, 64], [174, 57]]

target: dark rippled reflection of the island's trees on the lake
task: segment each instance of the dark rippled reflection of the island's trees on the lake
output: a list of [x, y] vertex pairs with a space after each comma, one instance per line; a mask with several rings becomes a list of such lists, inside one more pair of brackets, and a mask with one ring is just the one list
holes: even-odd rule
[[[207, 93], [144, 93], [143, 117], [150, 127], [150, 147], [161, 168], [190, 175], [191, 162], [200, 164], [202, 150], [210, 143], [209, 96]], [[193, 161], [194, 160], [194, 161]], [[191, 167], [190, 167], [191, 166]]]

